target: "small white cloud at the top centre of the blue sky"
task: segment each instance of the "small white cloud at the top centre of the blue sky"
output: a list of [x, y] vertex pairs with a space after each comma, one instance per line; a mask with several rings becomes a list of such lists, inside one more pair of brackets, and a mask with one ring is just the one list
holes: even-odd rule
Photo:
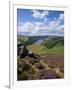
[[44, 19], [48, 14], [49, 12], [46, 10], [42, 12], [40, 12], [39, 10], [32, 10], [32, 16], [34, 18]]

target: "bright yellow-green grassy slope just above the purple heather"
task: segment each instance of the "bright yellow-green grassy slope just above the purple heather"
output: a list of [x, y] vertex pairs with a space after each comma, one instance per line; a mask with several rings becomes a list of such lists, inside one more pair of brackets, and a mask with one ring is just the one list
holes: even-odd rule
[[51, 49], [48, 49], [42, 45], [29, 45], [27, 47], [29, 50], [31, 49], [35, 54], [56, 54], [56, 55], [63, 55], [64, 53], [64, 47], [53, 47]]

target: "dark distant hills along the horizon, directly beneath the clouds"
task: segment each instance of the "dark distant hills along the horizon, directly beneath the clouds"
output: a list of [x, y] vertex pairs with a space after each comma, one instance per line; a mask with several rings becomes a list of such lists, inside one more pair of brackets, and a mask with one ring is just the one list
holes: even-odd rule
[[[51, 45], [55, 45], [58, 42], [63, 42], [63, 37], [57, 37], [57, 36], [23, 36], [23, 35], [18, 35], [17, 36], [17, 42], [23, 43], [23, 44], [42, 44], [47, 47], [47, 44], [49, 43]], [[49, 45], [48, 45], [49, 47]]]

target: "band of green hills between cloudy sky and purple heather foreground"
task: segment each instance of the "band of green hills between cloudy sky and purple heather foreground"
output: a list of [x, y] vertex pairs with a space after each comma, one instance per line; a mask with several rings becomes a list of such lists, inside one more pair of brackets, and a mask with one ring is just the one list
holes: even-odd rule
[[64, 38], [52, 36], [18, 36], [18, 44], [26, 44], [29, 50], [36, 54], [64, 53]]

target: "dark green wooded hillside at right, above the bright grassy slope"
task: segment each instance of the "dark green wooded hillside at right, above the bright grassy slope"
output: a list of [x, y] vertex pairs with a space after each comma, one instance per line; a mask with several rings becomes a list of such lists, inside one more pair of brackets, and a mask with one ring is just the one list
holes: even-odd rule
[[64, 38], [63, 37], [53, 37], [53, 38], [46, 38], [42, 45], [47, 48], [59, 47], [64, 46]]

